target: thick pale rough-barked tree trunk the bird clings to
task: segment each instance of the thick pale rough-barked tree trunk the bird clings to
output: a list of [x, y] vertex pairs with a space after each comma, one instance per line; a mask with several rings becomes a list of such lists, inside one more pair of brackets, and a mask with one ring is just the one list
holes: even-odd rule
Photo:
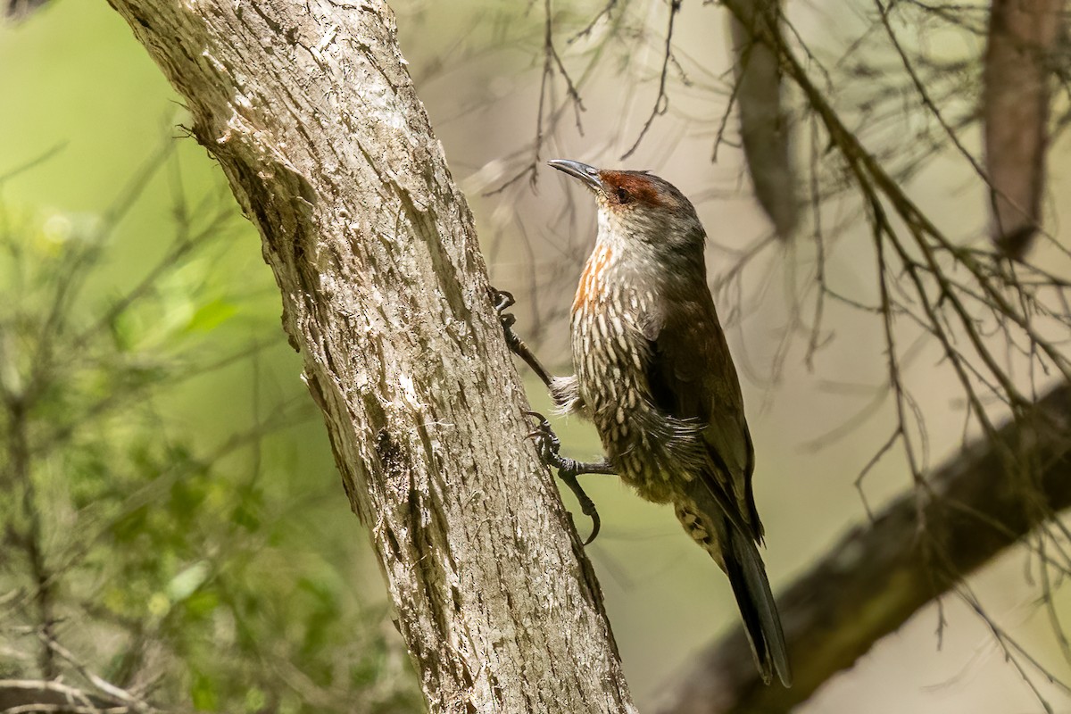
[[389, 7], [110, 1], [260, 230], [431, 710], [632, 711]]

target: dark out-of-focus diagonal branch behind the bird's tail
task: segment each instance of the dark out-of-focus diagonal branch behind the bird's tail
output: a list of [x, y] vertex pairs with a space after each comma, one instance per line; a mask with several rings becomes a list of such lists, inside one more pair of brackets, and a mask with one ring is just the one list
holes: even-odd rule
[[[1004, 451], [1002, 450], [1008, 450]], [[1037, 483], [1008, 472], [1008, 454], [1038, 465]], [[921, 510], [918, 495], [894, 501], [855, 528], [778, 598], [789, 644], [791, 689], [766, 687], [742, 629], [700, 655], [662, 714], [788, 712], [878, 639], [1071, 506], [1071, 385], [1053, 390], [1029, 424], [1005, 425], [995, 441], [966, 449], [938, 469]], [[924, 533], [924, 537], [920, 534]]]

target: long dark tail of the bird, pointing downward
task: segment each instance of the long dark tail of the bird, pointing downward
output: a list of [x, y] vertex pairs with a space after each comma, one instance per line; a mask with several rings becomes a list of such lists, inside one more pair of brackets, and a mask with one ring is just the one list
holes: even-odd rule
[[744, 632], [748, 633], [755, 664], [767, 684], [770, 683], [771, 673], [776, 672], [783, 685], [791, 686], [793, 673], [788, 667], [785, 635], [781, 631], [781, 618], [778, 616], [773, 593], [770, 592], [770, 581], [766, 577], [758, 546], [727, 519], [725, 531], [719, 538], [725, 574], [733, 584], [733, 594], [736, 595], [743, 617]]

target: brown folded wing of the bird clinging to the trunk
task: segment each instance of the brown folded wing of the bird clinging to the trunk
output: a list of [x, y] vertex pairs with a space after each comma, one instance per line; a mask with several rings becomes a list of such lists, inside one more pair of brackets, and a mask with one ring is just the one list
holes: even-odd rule
[[[706, 293], [706, 291], [704, 291]], [[740, 381], [709, 293], [655, 310], [643, 325], [650, 346], [647, 380], [663, 412], [696, 421], [714, 469], [703, 477], [723, 502], [726, 516], [756, 540], [763, 527], [755, 510], [751, 475], [755, 451], [743, 411]], [[728, 501], [728, 503], [724, 503]]]

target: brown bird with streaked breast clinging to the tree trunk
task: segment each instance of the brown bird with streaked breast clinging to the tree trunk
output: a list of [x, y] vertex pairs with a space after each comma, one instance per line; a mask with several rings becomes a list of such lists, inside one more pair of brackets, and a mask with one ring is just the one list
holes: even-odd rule
[[775, 673], [790, 686], [785, 636], [758, 550], [755, 449], [707, 287], [707, 234], [695, 207], [648, 171], [548, 164], [579, 180], [598, 207], [594, 248], [572, 305], [574, 374], [545, 381], [559, 410], [594, 424], [605, 458], [558, 460], [574, 475], [617, 473], [642, 498], [672, 504], [728, 576], [763, 680], [769, 684]]

